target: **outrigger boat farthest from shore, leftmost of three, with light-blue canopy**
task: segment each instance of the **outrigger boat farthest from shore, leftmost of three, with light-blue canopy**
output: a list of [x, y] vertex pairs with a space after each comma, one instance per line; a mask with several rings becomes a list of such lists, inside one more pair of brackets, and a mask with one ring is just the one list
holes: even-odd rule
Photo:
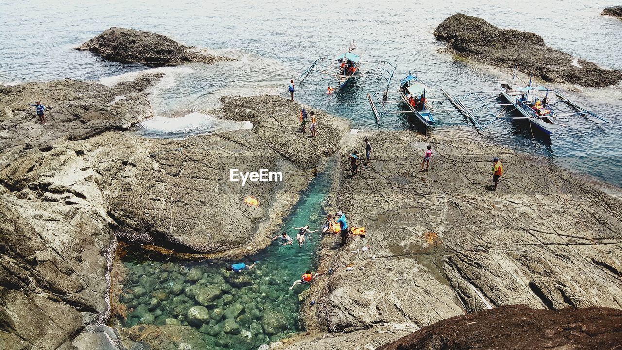
[[[323, 73], [335, 78], [337, 86], [334, 88], [331, 87], [332, 90], [345, 87], [348, 82], [351, 82], [354, 78], [368, 77], [369, 75], [378, 75], [378, 77], [383, 77], [387, 80], [388, 84], [391, 83], [391, 78], [393, 77], [396, 66], [387, 61], [364, 62], [361, 60], [363, 55], [364, 51], [358, 49], [355, 40], [352, 40], [350, 45], [346, 49], [341, 50], [334, 59], [330, 60], [327, 66], [318, 68], [322, 67], [327, 57], [315, 60], [315, 62], [313, 62], [313, 64], [298, 78], [299, 85], [302, 84], [305, 78], [309, 77], [312, 72]], [[369, 67], [370, 64], [374, 64], [374, 67]], [[385, 65], [389, 67], [385, 68]]]

